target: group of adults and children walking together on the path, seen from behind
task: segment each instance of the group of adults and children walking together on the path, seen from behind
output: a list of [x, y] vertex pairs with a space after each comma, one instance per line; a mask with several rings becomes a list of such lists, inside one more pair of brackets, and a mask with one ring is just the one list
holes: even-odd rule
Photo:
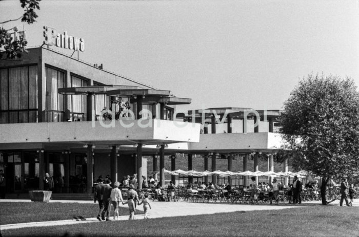
[[[136, 211], [137, 205], [142, 205], [144, 207], [145, 219], [148, 218], [148, 209], [151, 208], [150, 201], [148, 199], [148, 194], [146, 193], [144, 198], [138, 197], [138, 193], [135, 189], [135, 186], [131, 183], [129, 184], [129, 189], [127, 191], [128, 200], [124, 201], [122, 197], [121, 189], [119, 182], [114, 182], [111, 187], [111, 180], [99, 178], [97, 180], [97, 185], [94, 187], [94, 203], [98, 202], [99, 211], [97, 214], [97, 219], [99, 221], [112, 221], [110, 220], [111, 204], [113, 205], [113, 220], [119, 220], [118, 207], [121, 202], [122, 205], [128, 204], [129, 210], [129, 220], [134, 219], [134, 214]], [[141, 202], [140, 202], [141, 199]]]

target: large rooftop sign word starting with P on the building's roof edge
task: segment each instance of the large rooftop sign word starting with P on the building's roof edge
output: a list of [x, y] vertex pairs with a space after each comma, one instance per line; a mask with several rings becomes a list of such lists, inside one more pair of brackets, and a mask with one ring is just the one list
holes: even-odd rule
[[57, 33], [55, 28], [44, 26], [44, 44], [55, 45], [59, 48], [75, 51], [84, 51], [85, 43], [83, 38], [69, 36], [67, 31], [64, 34]]

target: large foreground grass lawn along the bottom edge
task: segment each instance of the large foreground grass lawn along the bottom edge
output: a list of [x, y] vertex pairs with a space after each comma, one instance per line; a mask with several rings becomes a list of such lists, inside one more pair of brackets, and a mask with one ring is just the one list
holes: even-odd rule
[[[201, 205], [201, 204], [198, 204]], [[359, 208], [307, 206], [2, 231], [3, 236], [359, 236]]]

